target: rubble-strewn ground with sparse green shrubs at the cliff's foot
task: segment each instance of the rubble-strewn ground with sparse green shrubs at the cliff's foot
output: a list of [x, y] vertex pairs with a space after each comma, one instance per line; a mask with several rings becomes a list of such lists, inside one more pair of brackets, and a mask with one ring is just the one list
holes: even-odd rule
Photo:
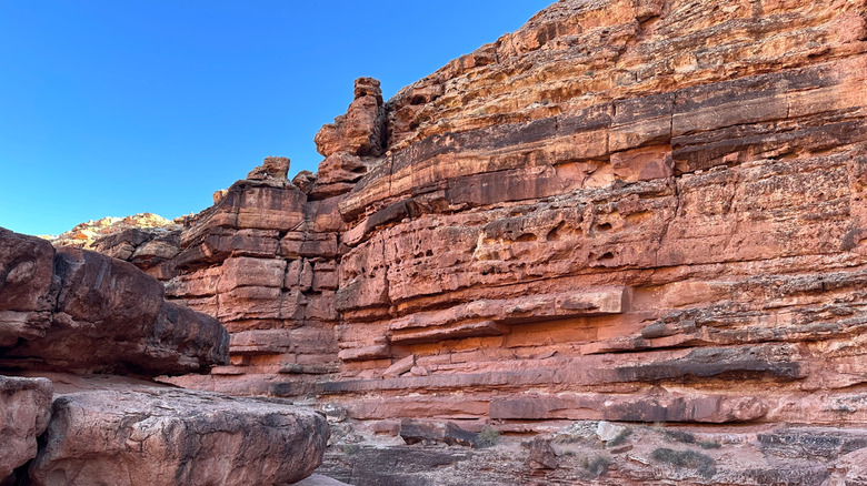
[[[366, 435], [360, 424], [349, 426], [346, 437], [365, 442], [350, 447], [338, 442], [327, 453], [320, 469], [330, 477], [356, 484], [417, 484], [494, 486], [520, 484], [629, 485], [844, 485], [859, 484], [858, 459], [864, 448], [835, 457], [765, 454], [756, 434], [785, 428], [702, 427], [688, 429], [666, 424], [632, 424], [622, 428], [610, 446], [597, 437], [596, 422], [551, 424], [548, 432], [531, 439], [501, 435], [492, 446], [461, 454], [444, 445], [411, 446], [389, 443], [389, 438]], [[502, 431], [508, 425], [500, 426]], [[516, 432], [519, 431], [516, 428]], [[853, 442], [864, 431], [853, 428], [803, 428], [803, 438], [813, 434], [837, 434]], [[809, 444], [809, 443], [808, 443]], [[793, 444], [794, 445], [794, 444]], [[389, 467], [376, 467], [388, 464]], [[470, 478], [470, 479], [468, 479]], [[826, 483], [826, 480], [830, 480]], [[850, 480], [850, 483], [845, 483]]]

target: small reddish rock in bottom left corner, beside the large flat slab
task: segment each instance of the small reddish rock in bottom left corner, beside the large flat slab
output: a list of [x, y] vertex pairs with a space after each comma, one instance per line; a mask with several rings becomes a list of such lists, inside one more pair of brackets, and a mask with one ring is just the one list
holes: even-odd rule
[[51, 382], [0, 376], [0, 480], [37, 455], [48, 427]]

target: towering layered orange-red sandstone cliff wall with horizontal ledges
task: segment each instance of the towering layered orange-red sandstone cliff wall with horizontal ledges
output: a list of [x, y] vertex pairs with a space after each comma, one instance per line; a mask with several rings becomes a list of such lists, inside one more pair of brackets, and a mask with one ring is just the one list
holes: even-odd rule
[[[708, 463], [657, 452], [664, 434], [617, 454], [588, 438], [572, 453], [610, 455], [611, 484], [860, 477], [865, 14], [566, 0], [387, 102], [360, 79], [317, 135], [318, 174], [239, 181], [159, 264], [170, 298], [232, 333], [231, 365], [173, 382], [313, 396], [351, 434], [542, 434], [491, 484], [597, 480], [546, 445], [572, 421], [701, 424], [722, 444]], [[391, 479], [487, 460], [412, 450]], [[328, 464], [382, 475], [362, 465], [393, 452]]]

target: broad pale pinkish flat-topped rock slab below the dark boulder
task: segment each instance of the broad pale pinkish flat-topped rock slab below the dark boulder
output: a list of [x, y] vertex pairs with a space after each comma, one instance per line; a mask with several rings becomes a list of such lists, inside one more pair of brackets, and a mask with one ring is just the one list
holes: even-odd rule
[[321, 463], [322, 415], [153, 386], [60, 395], [33, 485], [280, 485]]

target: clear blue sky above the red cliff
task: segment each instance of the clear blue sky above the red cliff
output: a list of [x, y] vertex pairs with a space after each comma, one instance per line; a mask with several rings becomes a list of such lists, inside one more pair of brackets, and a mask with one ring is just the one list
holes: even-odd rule
[[352, 81], [386, 98], [552, 0], [0, 0], [0, 226], [176, 217], [267, 155], [316, 170]]

